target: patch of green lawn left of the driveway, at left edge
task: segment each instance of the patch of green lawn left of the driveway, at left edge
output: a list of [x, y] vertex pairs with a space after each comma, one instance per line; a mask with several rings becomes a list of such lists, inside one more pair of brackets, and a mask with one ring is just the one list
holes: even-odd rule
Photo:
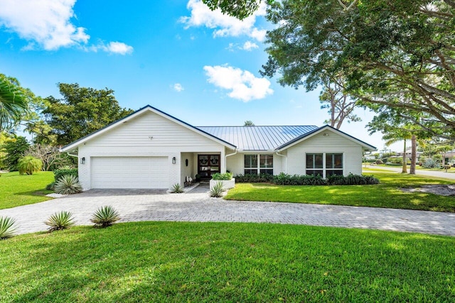
[[46, 191], [45, 186], [53, 182], [53, 172], [36, 172], [33, 175], [19, 175], [18, 172], [8, 172], [0, 177], [0, 209], [43, 202], [52, 191]]

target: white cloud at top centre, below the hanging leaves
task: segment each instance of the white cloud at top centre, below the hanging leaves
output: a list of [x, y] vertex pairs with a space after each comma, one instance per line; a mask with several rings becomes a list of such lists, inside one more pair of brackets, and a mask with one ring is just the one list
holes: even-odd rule
[[266, 13], [264, 2], [261, 2], [261, 6], [252, 16], [240, 21], [235, 17], [224, 15], [220, 9], [211, 11], [200, 0], [189, 0], [186, 7], [191, 11], [191, 16], [181, 17], [181, 22], [186, 24], [186, 28], [191, 26], [213, 28], [214, 37], [247, 35], [263, 41], [266, 31], [255, 28], [255, 22], [257, 16], [264, 16]]

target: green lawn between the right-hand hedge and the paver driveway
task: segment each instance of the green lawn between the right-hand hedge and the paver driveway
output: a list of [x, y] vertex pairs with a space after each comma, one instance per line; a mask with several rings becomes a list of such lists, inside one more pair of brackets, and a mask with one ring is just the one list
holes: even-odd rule
[[389, 207], [455, 212], [455, 197], [423, 192], [402, 192], [400, 187], [419, 187], [425, 184], [453, 184], [453, 181], [375, 173], [381, 184], [353, 186], [283, 186], [264, 183], [237, 183], [225, 199], [242, 201], [295, 202], [350, 206]]

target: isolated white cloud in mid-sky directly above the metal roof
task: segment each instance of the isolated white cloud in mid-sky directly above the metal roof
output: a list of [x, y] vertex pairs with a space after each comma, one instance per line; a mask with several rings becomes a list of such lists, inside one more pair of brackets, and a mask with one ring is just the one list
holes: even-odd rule
[[257, 78], [247, 70], [230, 66], [205, 66], [205, 74], [208, 82], [216, 87], [228, 89], [231, 92], [229, 97], [242, 101], [264, 99], [267, 95], [273, 94], [269, 80]]

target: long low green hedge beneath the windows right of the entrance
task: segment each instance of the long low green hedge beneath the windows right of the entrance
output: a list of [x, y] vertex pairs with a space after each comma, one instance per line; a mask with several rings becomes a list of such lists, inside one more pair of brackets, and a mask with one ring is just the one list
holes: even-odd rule
[[363, 185], [379, 184], [379, 180], [373, 176], [353, 175], [338, 176], [332, 175], [323, 179], [321, 175], [287, 175], [283, 172], [279, 175], [235, 175], [237, 183], [273, 183], [277, 185]]

